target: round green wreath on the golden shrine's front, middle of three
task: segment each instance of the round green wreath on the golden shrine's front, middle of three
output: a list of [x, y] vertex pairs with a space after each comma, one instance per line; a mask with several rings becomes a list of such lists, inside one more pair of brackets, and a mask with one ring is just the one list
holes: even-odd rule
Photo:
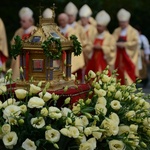
[[[60, 39], [51, 38], [49, 37], [46, 41], [42, 43], [42, 48], [44, 50], [44, 54], [46, 57], [49, 57], [51, 59], [60, 59], [62, 55], [62, 47]], [[57, 49], [52, 50], [52, 49]]]

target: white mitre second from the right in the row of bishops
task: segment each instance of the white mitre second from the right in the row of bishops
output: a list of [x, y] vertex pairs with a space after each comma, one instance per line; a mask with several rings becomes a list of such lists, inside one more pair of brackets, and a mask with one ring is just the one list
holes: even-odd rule
[[107, 26], [110, 22], [110, 16], [105, 10], [100, 11], [96, 15], [95, 19], [96, 19], [97, 24], [102, 25], [102, 26]]

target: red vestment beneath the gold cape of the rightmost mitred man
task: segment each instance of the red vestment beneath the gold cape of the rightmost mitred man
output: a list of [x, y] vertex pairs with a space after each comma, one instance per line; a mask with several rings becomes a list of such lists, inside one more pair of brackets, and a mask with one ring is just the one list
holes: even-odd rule
[[[119, 41], [126, 41], [126, 36], [120, 36]], [[129, 58], [125, 48], [117, 47], [117, 57], [115, 62], [115, 69], [117, 69], [118, 79], [121, 79], [121, 84], [125, 84], [125, 71], [128, 76], [133, 80], [136, 80], [135, 65]]]

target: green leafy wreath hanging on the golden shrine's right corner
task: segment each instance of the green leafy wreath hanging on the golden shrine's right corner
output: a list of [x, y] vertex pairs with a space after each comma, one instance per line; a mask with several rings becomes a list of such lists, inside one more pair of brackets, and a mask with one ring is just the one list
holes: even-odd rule
[[70, 39], [73, 41], [74, 56], [79, 56], [82, 52], [81, 43], [78, 41], [78, 38], [75, 35], [71, 35]]

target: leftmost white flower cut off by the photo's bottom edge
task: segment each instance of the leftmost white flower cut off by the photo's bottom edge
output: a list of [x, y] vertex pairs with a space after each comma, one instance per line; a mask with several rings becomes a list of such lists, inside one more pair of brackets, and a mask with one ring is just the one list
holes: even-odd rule
[[22, 148], [25, 150], [36, 150], [37, 146], [35, 145], [35, 143], [33, 141], [31, 141], [30, 139], [26, 139], [23, 143], [22, 143]]

